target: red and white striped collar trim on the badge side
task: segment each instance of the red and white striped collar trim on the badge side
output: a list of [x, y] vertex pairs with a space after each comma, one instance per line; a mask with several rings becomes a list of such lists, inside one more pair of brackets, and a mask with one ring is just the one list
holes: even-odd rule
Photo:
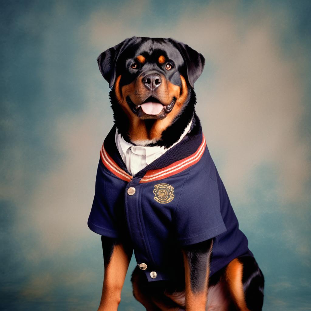
[[202, 135], [202, 143], [191, 156], [182, 160], [176, 161], [171, 165], [168, 165], [162, 169], [154, 169], [148, 171], [139, 183], [148, 183], [150, 181], [156, 181], [167, 178], [174, 174], [180, 173], [188, 167], [196, 164], [202, 157], [206, 147], [206, 141], [204, 135]]

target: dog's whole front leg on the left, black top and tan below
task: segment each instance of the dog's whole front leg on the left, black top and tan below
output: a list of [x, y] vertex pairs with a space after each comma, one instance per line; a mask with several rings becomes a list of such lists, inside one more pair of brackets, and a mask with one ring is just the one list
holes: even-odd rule
[[121, 301], [121, 290], [133, 249], [125, 241], [101, 237], [104, 255], [104, 283], [98, 311], [114, 311]]

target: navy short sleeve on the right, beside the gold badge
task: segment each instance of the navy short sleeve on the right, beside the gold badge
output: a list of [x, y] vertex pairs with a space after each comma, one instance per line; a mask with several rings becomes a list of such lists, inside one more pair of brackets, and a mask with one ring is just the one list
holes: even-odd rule
[[205, 170], [189, 173], [174, 215], [180, 245], [196, 244], [226, 231], [218, 185]]

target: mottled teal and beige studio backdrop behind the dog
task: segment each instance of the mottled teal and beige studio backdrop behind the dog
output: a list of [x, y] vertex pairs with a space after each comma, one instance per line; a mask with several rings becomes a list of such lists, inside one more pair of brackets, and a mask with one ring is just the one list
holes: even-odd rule
[[[1, 310], [96, 310], [86, 222], [113, 125], [96, 57], [137, 35], [206, 58], [197, 113], [266, 278], [264, 310], [310, 307], [310, 1], [1, 1]], [[131, 262], [131, 270], [135, 262]], [[143, 310], [128, 273], [119, 310]]]

